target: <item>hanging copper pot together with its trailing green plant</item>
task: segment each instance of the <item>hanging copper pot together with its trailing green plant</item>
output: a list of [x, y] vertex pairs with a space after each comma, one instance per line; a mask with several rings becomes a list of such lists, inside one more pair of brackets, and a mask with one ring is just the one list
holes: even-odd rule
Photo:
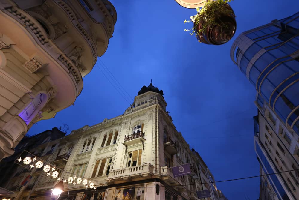
[[195, 34], [199, 42], [220, 45], [228, 42], [235, 34], [237, 24], [234, 10], [228, 2], [231, 0], [207, 0], [206, 4], [197, 8], [197, 15], [191, 16], [193, 22], [190, 34]]

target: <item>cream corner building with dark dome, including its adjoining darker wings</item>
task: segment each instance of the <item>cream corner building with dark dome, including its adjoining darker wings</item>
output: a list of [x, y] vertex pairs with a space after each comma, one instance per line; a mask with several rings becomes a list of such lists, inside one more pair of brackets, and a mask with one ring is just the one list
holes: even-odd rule
[[[198, 152], [190, 150], [176, 130], [166, 106], [163, 91], [150, 84], [141, 88], [123, 115], [49, 141], [53, 153], [43, 160], [57, 169], [59, 178], [68, 180], [64, 191], [69, 188], [70, 197], [64, 192], [60, 199], [186, 200], [198, 199], [199, 190], [210, 191], [205, 200], [225, 199]], [[37, 146], [30, 152], [43, 148]], [[174, 177], [171, 167], [185, 163], [190, 163], [191, 174]], [[28, 171], [34, 177], [29, 188], [22, 186], [9, 197], [49, 198], [57, 178], [35, 168]], [[84, 185], [84, 180], [89, 182]], [[90, 187], [90, 181], [96, 188]], [[7, 189], [16, 185], [11, 182]]]

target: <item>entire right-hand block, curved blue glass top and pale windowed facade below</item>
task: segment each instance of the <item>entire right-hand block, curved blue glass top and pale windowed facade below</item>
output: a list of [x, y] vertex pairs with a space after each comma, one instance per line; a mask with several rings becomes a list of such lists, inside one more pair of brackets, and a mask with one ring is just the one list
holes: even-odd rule
[[[245, 31], [231, 58], [257, 90], [254, 148], [260, 199], [299, 196], [299, 12]], [[278, 173], [283, 171], [289, 171]]]

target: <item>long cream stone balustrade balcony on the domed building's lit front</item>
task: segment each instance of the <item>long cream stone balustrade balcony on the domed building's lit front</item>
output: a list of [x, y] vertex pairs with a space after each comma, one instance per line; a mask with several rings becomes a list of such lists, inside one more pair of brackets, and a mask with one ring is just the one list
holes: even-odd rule
[[108, 183], [114, 183], [115, 181], [132, 181], [134, 178], [146, 177], [151, 178], [153, 175], [153, 166], [150, 163], [143, 165], [126, 167], [123, 169], [111, 170], [106, 179]]

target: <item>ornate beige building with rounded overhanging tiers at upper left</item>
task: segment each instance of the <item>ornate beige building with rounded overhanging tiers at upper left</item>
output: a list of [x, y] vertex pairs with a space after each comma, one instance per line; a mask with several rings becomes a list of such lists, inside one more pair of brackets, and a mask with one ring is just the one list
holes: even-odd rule
[[116, 19], [107, 0], [0, 2], [0, 160], [33, 123], [74, 103]]

